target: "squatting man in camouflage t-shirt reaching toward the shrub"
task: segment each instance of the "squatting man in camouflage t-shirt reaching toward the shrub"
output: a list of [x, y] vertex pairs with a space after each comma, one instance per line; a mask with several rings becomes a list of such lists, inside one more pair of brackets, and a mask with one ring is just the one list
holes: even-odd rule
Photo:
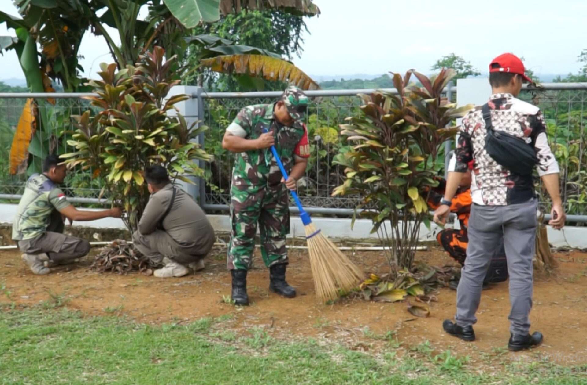
[[49, 155], [43, 161], [43, 173], [33, 174], [26, 182], [25, 192], [12, 224], [12, 239], [24, 253], [22, 260], [34, 274], [49, 274], [49, 267], [83, 257], [90, 251], [90, 243], [63, 234], [68, 218], [95, 220], [120, 217], [120, 209], [86, 211], [77, 210], [59, 189], [65, 179], [65, 165], [59, 156]]

